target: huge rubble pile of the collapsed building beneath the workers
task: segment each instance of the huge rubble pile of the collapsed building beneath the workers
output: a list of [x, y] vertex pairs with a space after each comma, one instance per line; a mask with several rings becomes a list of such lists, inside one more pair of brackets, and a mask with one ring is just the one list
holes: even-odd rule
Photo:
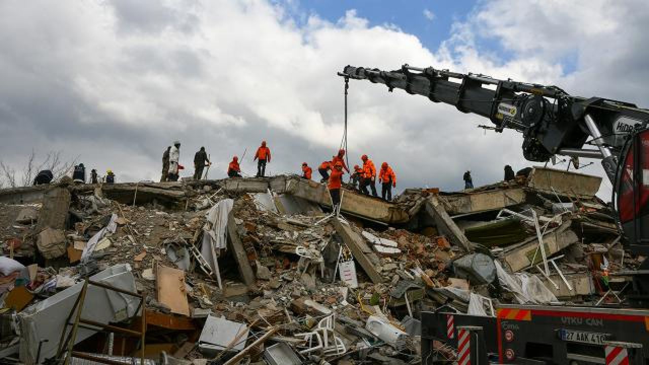
[[[321, 185], [291, 190], [297, 177], [51, 186], [39, 201], [0, 206], [0, 356], [417, 364], [422, 310], [495, 316], [502, 303], [620, 300], [628, 277], [615, 273], [639, 261], [610, 208], [596, 189], [544, 186], [541, 173], [552, 172], [456, 193], [408, 189], [394, 203], [345, 192], [347, 204], [407, 214], [394, 225], [345, 203], [328, 216], [310, 198]], [[77, 305], [92, 325], [60, 351]], [[118, 323], [134, 335], [143, 320], [143, 342], [99, 331]]]

